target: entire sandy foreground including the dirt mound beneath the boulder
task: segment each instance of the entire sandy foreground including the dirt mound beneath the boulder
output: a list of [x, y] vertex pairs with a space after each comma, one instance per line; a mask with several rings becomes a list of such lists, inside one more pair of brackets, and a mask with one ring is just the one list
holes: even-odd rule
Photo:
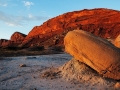
[[[119, 81], [104, 79], [84, 64], [79, 63], [78, 67], [78, 62], [70, 61], [71, 58], [68, 54], [2, 58], [0, 90], [117, 90], [119, 87]], [[76, 78], [79, 74], [80, 78]]]

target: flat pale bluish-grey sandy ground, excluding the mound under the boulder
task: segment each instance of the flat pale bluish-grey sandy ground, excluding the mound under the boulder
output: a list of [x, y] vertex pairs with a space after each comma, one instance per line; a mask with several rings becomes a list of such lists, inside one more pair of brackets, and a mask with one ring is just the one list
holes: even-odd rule
[[[3, 58], [0, 60], [0, 90], [116, 90], [97, 83], [71, 82], [57, 75], [58, 68], [71, 58], [68, 54]], [[26, 66], [20, 67], [21, 64]], [[57, 74], [54, 75], [52, 70]], [[116, 82], [111, 83], [114, 85]]]

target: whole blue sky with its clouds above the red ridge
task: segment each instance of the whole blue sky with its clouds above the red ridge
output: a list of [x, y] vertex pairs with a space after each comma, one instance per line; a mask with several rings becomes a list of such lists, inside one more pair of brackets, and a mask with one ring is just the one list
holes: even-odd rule
[[0, 39], [10, 39], [15, 32], [28, 34], [60, 14], [82, 9], [120, 10], [120, 0], [0, 0]]

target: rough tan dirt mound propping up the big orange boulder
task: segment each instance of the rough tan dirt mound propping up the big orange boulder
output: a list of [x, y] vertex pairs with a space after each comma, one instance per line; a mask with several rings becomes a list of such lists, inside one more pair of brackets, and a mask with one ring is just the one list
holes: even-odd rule
[[86, 64], [76, 60], [75, 58], [71, 59], [69, 62], [65, 63], [60, 67], [62, 77], [71, 81], [72, 83], [84, 83], [84, 85], [89, 87], [94, 87], [97, 85], [97, 89], [115, 89], [114, 85], [117, 81], [103, 78], [92, 68]]

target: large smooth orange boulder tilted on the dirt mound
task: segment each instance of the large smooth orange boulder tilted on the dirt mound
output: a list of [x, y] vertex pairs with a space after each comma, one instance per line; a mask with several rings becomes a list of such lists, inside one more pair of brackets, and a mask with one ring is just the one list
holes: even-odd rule
[[104, 77], [120, 80], [120, 50], [107, 40], [83, 30], [68, 32], [65, 51]]

